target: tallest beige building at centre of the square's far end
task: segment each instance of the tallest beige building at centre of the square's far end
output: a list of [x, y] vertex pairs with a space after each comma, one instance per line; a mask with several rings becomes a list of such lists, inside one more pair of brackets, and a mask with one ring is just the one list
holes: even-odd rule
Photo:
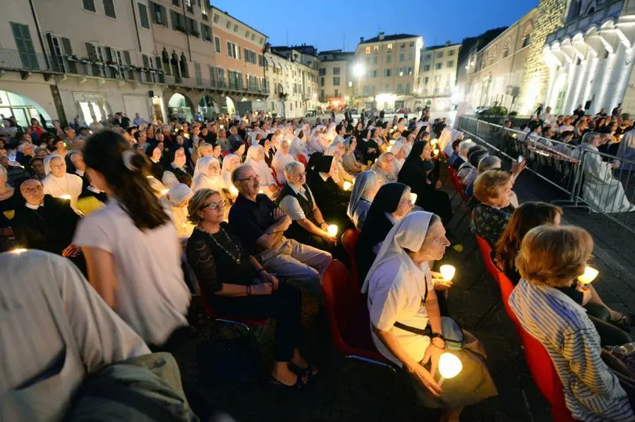
[[385, 35], [360, 39], [355, 50], [356, 66], [361, 69], [356, 97], [358, 108], [415, 108], [423, 37]]

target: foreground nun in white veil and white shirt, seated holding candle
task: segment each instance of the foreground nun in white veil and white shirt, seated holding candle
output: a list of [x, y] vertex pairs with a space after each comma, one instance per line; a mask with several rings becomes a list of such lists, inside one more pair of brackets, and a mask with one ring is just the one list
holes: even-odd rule
[[[441, 219], [416, 211], [394, 225], [364, 280], [373, 342], [379, 352], [412, 376], [425, 407], [448, 408], [444, 420], [459, 420], [461, 410], [497, 395], [485, 366], [485, 352], [475, 337], [452, 318], [441, 317], [434, 290], [437, 277], [428, 261], [442, 259], [450, 242]], [[395, 326], [399, 323], [399, 328]], [[413, 333], [430, 328], [442, 337]], [[463, 340], [459, 344], [452, 340]], [[463, 370], [439, 385], [439, 356], [452, 348]], [[399, 357], [397, 357], [399, 356]], [[430, 369], [425, 365], [430, 364]]]

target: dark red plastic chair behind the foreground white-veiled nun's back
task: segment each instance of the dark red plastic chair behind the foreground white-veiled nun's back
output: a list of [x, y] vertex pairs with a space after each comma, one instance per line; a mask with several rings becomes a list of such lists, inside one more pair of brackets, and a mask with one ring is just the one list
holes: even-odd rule
[[331, 328], [331, 339], [346, 359], [358, 359], [387, 366], [389, 361], [377, 352], [370, 336], [370, 318], [366, 301], [356, 280], [349, 276], [344, 263], [337, 259], [322, 275], [325, 309]]

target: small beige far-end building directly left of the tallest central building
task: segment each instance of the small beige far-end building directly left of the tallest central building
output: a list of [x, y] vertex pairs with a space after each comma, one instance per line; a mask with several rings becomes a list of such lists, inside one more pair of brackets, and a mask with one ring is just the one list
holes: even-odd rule
[[353, 65], [353, 51], [330, 50], [320, 51], [320, 69], [318, 70], [320, 102], [331, 106], [351, 104], [357, 89]]

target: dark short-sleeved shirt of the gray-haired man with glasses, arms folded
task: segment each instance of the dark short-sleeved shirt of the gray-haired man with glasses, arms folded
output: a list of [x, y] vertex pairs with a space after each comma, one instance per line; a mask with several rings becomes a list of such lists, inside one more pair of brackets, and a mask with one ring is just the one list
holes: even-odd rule
[[277, 205], [265, 194], [256, 195], [255, 201], [250, 201], [243, 195], [238, 195], [236, 202], [229, 210], [229, 225], [238, 235], [250, 254], [256, 252], [256, 241], [265, 234], [265, 230], [276, 222], [273, 216]]

